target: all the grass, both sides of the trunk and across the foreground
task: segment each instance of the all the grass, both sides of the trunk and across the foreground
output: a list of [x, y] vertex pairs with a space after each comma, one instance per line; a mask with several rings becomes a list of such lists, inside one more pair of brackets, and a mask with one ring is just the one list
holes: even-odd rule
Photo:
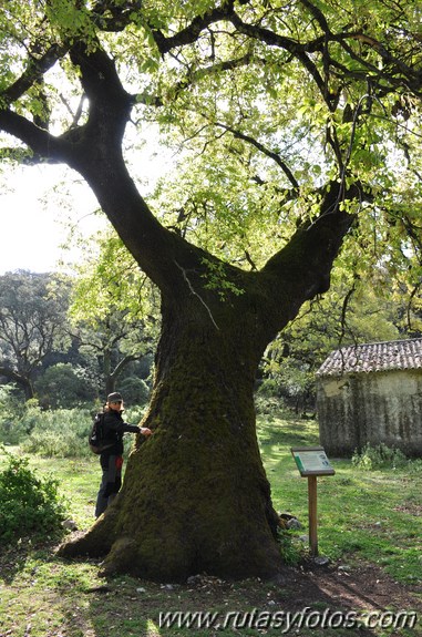
[[[306, 555], [308, 533], [307, 479], [300, 477], [290, 446], [318, 443], [311, 421], [269, 419], [259, 422], [258, 436], [275, 507], [302, 523], [289, 532], [291, 561]], [[0, 456], [0, 470], [4, 459]], [[422, 472], [409, 469], [362, 471], [351, 461], [330, 459], [336, 475], [318, 479], [318, 540], [320, 553], [351, 569], [362, 562], [379, 565], [402, 585], [422, 584]], [[60, 481], [69, 500], [69, 515], [80, 530], [93, 521], [100, 481], [99, 460], [32, 458], [30, 465]], [[303, 537], [305, 536], [305, 537]], [[54, 556], [51, 542], [33, 545], [22, 540], [0, 553], [0, 635], [3, 637], [204, 637], [239, 635], [276, 637], [280, 628], [241, 629], [158, 627], [166, 610], [243, 613], [306, 607], [280, 584], [250, 579], [239, 583], [206, 578], [196, 584], [159, 585], [132, 577], [99, 578], [99, 562], [65, 562]], [[298, 566], [298, 572], [300, 568]], [[393, 603], [393, 599], [391, 600]], [[291, 606], [292, 605], [292, 606]], [[321, 612], [336, 608], [336, 599], [315, 603]], [[418, 631], [419, 630], [419, 631]], [[353, 630], [307, 629], [300, 637], [342, 637]], [[422, 635], [402, 629], [359, 630], [362, 637]]]

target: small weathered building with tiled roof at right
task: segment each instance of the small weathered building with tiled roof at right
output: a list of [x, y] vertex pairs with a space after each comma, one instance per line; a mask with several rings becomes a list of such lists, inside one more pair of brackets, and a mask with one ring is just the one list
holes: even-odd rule
[[317, 372], [320, 442], [330, 455], [367, 443], [422, 456], [422, 339], [333, 351]]

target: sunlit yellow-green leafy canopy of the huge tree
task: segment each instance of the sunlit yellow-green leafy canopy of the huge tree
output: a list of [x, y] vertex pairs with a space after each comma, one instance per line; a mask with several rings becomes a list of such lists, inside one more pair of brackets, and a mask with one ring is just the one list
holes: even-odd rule
[[3, 157], [78, 169], [68, 155], [96, 134], [103, 90], [110, 134], [131, 117], [127, 152], [146, 127], [151, 142], [153, 122], [183, 148], [177, 181], [150, 208], [224, 259], [261, 267], [336, 179], [368, 194], [362, 260], [368, 243], [374, 259], [409, 257], [420, 251], [420, 18], [412, 1], [8, 2], [0, 125], [23, 145]]

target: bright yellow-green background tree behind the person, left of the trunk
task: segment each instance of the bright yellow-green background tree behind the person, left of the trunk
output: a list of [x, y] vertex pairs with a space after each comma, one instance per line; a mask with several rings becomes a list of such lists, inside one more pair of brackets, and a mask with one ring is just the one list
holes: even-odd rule
[[95, 360], [92, 374], [104, 400], [127, 367], [153, 351], [158, 322], [151, 285], [115, 233], [88, 242], [69, 314], [80, 351]]

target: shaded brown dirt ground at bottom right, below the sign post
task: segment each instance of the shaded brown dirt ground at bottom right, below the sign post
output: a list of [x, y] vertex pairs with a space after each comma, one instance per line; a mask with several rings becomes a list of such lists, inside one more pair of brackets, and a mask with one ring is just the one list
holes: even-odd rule
[[[189, 583], [182, 588], [185, 586], [189, 587]], [[292, 614], [306, 612], [307, 608], [309, 612], [319, 609], [323, 614], [325, 609], [329, 609], [330, 613], [344, 615], [353, 612], [380, 616], [387, 612], [390, 617], [391, 613], [414, 612], [415, 626], [409, 631], [399, 626], [397, 629], [389, 627], [384, 633], [381, 630], [381, 634], [389, 637], [422, 636], [422, 581], [414, 585], [401, 584], [373, 564], [358, 563], [349, 567], [339, 564], [319, 566], [309, 562], [299, 568], [287, 568], [277, 581], [263, 583], [261, 586], [255, 583], [248, 587], [243, 583], [229, 584], [206, 576], [191, 578], [189, 607], [209, 608], [222, 599], [226, 599], [228, 608], [236, 607], [240, 598], [244, 607], [266, 612], [282, 609]], [[292, 629], [291, 634], [296, 636], [301, 633]], [[329, 634], [343, 635], [344, 631], [329, 630]], [[373, 637], [380, 631], [360, 626], [346, 630], [346, 634]]]

